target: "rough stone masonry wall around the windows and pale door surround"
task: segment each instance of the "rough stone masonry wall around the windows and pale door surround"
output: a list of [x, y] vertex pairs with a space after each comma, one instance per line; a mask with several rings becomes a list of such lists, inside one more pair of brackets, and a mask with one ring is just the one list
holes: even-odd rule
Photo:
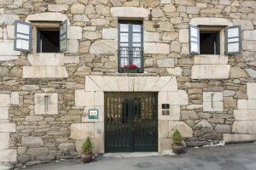
[[[151, 8], [153, 20], [148, 20]], [[9, 165], [5, 161], [15, 161], [16, 167], [20, 167], [26, 163], [78, 156], [79, 148], [75, 146], [84, 137], [78, 137], [72, 130], [82, 128], [83, 132], [88, 132], [96, 128], [96, 122], [86, 123], [84, 120], [86, 105], [77, 105], [79, 92], [91, 91], [85, 85], [88, 75], [113, 79], [122, 76], [175, 77], [177, 92], [187, 94], [188, 103], [178, 106], [178, 122], [172, 122], [168, 117], [160, 119], [159, 128], [163, 129], [160, 136], [166, 141], [162, 148], [170, 148], [170, 133], [177, 127], [189, 127], [183, 131], [188, 134], [184, 139], [188, 146], [218, 143], [222, 139], [229, 142], [254, 140], [255, 122], [248, 122], [247, 118], [237, 115], [253, 114], [244, 106], [254, 101], [250, 97], [252, 88], [248, 82], [255, 82], [256, 77], [255, 8], [253, 0], [1, 1], [0, 91], [1, 95], [10, 96], [18, 92], [19, 103], [16, 100], [14, 104], [1, 106], [3, 122], [0, 126], [7, 122], [15, 126], [11, 131], [0, 132], [4, 133], [0, 138], [9, 133], [9, 142], [4, 142], [3, 150], [16, 150], [17, 160], [15, 157], [1, 160], [0, 157], [0, 162], [4, 162], [3, 166], [7, 168], [13, 163]], [[26, 54], [13, 50], [15, 20], [66, 19], [69, 35], [67, 52]], [[119, 19], [143, 20], [145, 71], [142, 74], [120, 74], [117, 71]], [[189, 24], [241, 25], [241, 54], [189, 54]], [[41, 105], [35, 99], [38, 94], [57, 94], [57, 104], [53, 104], [57, 111], [53, 108], [53, 114], [44, 114], [44, 108], [38, 109]], [[222, 96], [213, 103], [223, 107], [212, 110], [212, 105], [205, 105], [209, 101], [204, 94], [210, 94], [212, 98], [215, 94]], [[167, 102], [172, 103], [175, 99], [173, 101], [170, 96], [171, 100]], [[237, 137], [236, 133], [240, 136]]]

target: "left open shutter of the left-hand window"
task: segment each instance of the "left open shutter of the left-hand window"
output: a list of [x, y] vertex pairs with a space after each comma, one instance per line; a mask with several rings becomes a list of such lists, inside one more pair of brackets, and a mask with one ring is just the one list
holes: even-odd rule
[[27, 22], [15, 20], [15, 51], [31, 52], [32, 25]]

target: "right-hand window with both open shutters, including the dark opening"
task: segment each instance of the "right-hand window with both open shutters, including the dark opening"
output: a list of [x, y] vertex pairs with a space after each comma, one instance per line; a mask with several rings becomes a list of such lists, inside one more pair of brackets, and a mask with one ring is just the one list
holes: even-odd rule
[[241, 54], [241, 26], [189, 26], [190, 54]]

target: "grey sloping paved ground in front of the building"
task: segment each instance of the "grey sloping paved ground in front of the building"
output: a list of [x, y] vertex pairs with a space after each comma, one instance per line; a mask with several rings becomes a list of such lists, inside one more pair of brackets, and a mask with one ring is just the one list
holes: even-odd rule
[[180, 156], [131, 158], [98, 157], [90, 164], [79, 160], [26, 167], [26, 170], [247, 170], [256, 169], [256, 144], [228, 144], [190, 148]]

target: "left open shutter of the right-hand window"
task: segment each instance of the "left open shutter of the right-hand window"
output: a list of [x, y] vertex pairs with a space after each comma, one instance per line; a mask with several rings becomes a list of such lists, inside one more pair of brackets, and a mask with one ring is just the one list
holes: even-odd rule
[[189, 25], [190, 54], [200, 54], [200, 33], [197, 26]]

